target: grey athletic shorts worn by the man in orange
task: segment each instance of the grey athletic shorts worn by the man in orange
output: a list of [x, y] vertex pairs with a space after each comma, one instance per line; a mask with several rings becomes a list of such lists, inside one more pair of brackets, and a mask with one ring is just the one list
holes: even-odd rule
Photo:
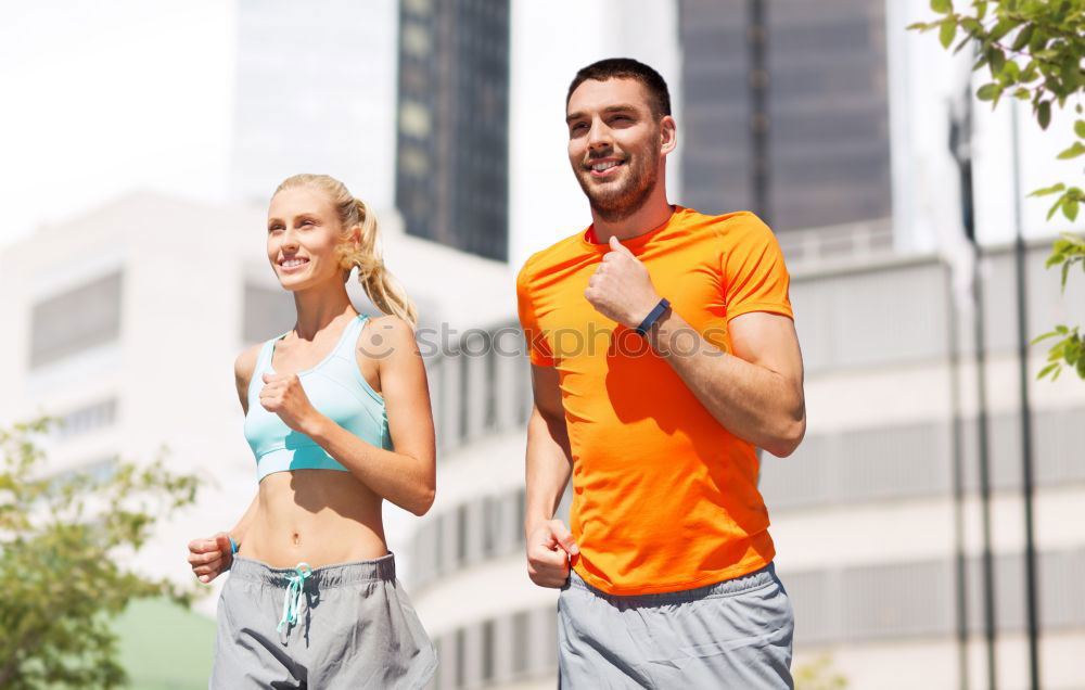
[[707, 587], [616, 597], [575, 572], [558, 598], [559, 687], [793, 688], [794, 616], [771, 564]]

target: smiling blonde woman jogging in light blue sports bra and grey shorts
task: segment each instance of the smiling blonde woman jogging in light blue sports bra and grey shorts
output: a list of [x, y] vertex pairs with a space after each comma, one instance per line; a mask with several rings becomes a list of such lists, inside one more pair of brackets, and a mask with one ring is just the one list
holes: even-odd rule
[[[200, 582], [231, 572], [210, 687], [422, 687], [436, 656], [381, 521], [385, 499], [419, 515], [433, 503], [414, 307], [384, 269], [372, 213], [331, 177], [279, 186], [267, 252], [297, 321], [234, 366], [259, 487], [229, 533], [189, 545]], [[387, 316], [354, 309], [354, 268]]]

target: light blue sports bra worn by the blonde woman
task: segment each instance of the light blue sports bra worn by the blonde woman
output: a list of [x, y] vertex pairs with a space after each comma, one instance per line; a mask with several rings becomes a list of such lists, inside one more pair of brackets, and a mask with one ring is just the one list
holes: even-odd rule
[[[388, 434], [388, 416], [382, 398], [361, 375], [355, 346], [358, 334], [369, 317], [359, 314], [343, 330], [339, 343], [323, 361], [311, 369], [298, 371], [297, 376], [312, 404], [321, 414], [355, 436], [379, 448], [392, 450]], [[289, 331], [288, 331], [289, 333]], [[248, 382], [248, 413], [245, 414], [245, 439], [256, 456], [257, 481], [272, 472], [285, 470], [340, 470], [347, 469], [335, 461], [315, 440], [292, 430], [260, 405], [264, 372], [271, 369], [275, 344], [286, 336], [264, 343], [252, 381]]]

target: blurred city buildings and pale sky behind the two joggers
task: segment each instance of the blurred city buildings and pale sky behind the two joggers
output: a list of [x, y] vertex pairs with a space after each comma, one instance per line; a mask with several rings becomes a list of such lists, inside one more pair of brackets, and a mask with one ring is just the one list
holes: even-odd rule
[[[1019, 311], [1027, 338], [1085, 322], [1085, 281], [1061, 294], [1044, 268], [1074, 226], [1023, 199], [1080, 166], [1055, 161], [1065, 141], [1027, 105], [969, 107], [968, 56], [905, 30], [926, 0], [47, 0], [2, 15], [0, 424], [60, 418], [56, 473], [165, 446], [208, 480], [140, 568], [191, 580], [186, 544], [256, 490], [232, 363], [294, 315], [266, 263], [267, 202], [292, 174], [328, 173], [379, 210], [386, 263], [441, 344], [436, 503], [385, 512], [438, 648], [432, 685], [554, 687], [557, 592], [523, 558], [527, 362], [497, 353], [519, 346], [523, 260], [589, 222], [567, 84], [630, 56], [671, 85], [672, 201], [760, 213], [793, 277], [808, 432], [792, 457], [763, 456], [761, 485], [806, 687], [985, 688], [992, 665], [999, 687], [1027, 687], [1032, 627], [1043, 686], [1085, 688], [1085, 381], [1035, 381], [1034, 346], [1022, 391], [1018, 359]], [[133, 687], [205, 686], [222, 579], [191, 612], [120, 617]]]

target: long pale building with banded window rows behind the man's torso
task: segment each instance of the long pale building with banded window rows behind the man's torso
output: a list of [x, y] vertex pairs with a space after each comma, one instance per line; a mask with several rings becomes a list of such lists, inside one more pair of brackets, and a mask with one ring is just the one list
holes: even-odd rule
[[[1059, 294], [1029, 254], [1030, 332], [1085, 320], [1085, 285]], [[987, 261], [987, 375], [1000, 687], [1024, 687], [1020, 417], [1011, 255]], [[762, 490], [796, 615], [796, 665], [829, 655], [857, 688], [957, 687], [954, 420], [961, 422], [968, 648], [984, 679], [976, 503], [975, 371], [969, 322], [952, 322], [947, 269], [932, 256], [792, 266], [809, 426], [790, 458], [765, 455]], [[950, 365], [956, 331], [962, 363]], [[433, 687], [553, 687], [556, 590], [523, 553], [527, 363], [514, 322], [431, 362], [442, 444], [437, 501], [410, 542], [409, 589], [436, 639]], [[486, 341], [497, 345], [486, 347]], [[520, 346], [522, 348], [522, 346]], [[503, 352], [495, 352], [501, 350]], [[1043, 353], [1034, 348], [1030, 370]], [[954, 404], [954, 381], [958, 403]], [[1085, 644], [1085, 384], [1031, 385], [1045, 687], [1080, 687]], [[567, 503], [562, 510], [567, 510]]]

